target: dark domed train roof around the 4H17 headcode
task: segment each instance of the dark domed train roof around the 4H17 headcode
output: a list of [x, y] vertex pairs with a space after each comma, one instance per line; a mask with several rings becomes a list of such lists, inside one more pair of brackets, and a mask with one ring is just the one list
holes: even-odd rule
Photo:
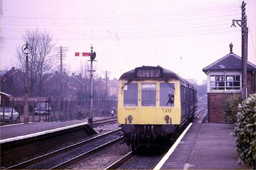
[[[152, 71], [152, 77], [138, 77], [138, 71], [140, 70], [160, 70], [161, 71], [161, 76], [154, 76], [154, 72]], [[189, 86], [193, 86], [193, 84], [189, 83], [185, 79], [182, 79], [177, 75], [177, 73], [174, 73], [170, 70], [167, 70], [161, 66], [140, 66], [136, 67], [133, 70], [130, 70], [129, 72], [125, 72], [121, 75], [119, 80], [141, 80], [141, 79], [178, 79], [186, 84], [189, 84]]]

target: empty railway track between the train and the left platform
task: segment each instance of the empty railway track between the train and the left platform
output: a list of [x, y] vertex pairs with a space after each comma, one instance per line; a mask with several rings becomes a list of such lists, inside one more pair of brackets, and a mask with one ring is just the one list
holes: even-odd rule
[[121, 129], [118, 128], [106, 134], [102, 134], [86, 141], [67, 146], [60, 150], [52, 151], [40, 157], [27, 160], [12, 167], [6, 169], [60, 169], [67, 166], [72, 162], [75, 162], [81, 157], [100, 150], [109, 144], [116, 143], [122, 140], [122, 137], [118, 136], [118, 132]]

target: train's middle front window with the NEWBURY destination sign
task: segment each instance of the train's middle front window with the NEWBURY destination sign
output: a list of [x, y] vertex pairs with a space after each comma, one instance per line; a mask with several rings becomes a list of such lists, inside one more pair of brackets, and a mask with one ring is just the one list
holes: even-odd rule
[[141, 105], [156, 105], [156, 83], [144, 82], [141, 85]]

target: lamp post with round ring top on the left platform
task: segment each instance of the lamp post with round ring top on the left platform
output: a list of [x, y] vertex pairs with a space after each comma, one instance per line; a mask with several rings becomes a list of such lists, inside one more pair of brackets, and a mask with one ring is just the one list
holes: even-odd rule
[[26, 44], [22, 46], [22, 52], [26, 54], [24, 124], [28, 124], [28, 54], [30, 54], [31, 51], [31, 45], [29, 45], [28, 42], [26, 42]]

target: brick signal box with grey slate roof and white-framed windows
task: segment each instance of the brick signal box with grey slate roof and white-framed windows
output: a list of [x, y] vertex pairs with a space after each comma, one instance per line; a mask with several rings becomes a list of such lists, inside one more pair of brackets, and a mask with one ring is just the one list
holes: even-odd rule
[[[230, 52], [209, 66], [203, 68], [207, 75], [207, 107], [208, 122], [225, 123], [222, 116], [221, 100], [230, 97], [234, 93], [242, 93], [242, 59]], [[247, 61], [247, 93], [255, 93], [255, 68]]]

